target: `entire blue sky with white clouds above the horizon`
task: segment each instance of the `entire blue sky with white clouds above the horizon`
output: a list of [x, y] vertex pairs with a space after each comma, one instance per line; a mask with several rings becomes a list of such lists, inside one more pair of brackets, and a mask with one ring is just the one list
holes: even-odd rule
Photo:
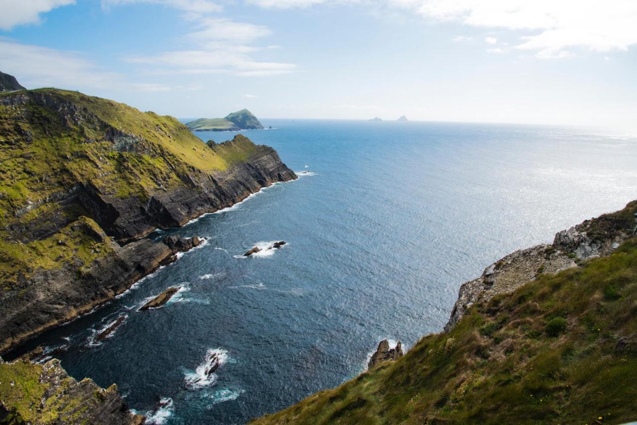
[[637, 129], [635, 0], [0, 0], [0, 71], [180, 118]]

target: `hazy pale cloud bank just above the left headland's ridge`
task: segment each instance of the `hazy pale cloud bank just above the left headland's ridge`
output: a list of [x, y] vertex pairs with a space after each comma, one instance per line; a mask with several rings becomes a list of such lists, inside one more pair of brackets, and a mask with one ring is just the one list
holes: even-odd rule
[[118, 73], [101, 71], [74, 52], [25, 45], [0, 38], [0, 69], [15, 76], [27, 88], [124, 89], [167, 91], [154, 83], [129, 83]]

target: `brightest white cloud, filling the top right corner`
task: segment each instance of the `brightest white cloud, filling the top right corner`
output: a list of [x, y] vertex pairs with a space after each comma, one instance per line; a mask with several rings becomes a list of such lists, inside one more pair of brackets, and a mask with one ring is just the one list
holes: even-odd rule
[[567, 57], [569, 49], [626, 50], [637, 44], [634, 0], [387, 0], [441, 21], [531, 32], [516, 47], [538, 57]]

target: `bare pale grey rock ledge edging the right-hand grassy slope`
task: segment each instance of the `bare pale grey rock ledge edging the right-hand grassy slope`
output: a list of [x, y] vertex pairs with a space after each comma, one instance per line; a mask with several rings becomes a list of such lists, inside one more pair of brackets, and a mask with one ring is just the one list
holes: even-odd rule
[[462, 284], [445, 331], [454, 328], [471, 305], [513, 292], [543, 273], [557, 273], [587, 259], [608, 256], [636, 232], [637, 201], [633, 201], [623, 210], [562, 230], [555, 234], [552, 244], [509, 254], [487, 267], [479, 278]]

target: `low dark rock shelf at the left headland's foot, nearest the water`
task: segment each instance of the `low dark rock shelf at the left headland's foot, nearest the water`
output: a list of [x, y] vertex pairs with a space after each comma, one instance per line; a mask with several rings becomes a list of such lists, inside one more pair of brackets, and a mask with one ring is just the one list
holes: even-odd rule
[[[108, 241], [103, 233], [97, 238]], [[61, 269], [38, 271], [19, 292], [1, 292], [0, 351], [109, 301], [159, 266], [175, 261], [178, 252], [196, 246], [194, 239], [175, 242], [169, 236], [168, 243], [141, 239], [124, 247], [109, 241], [112, 254], [92, 264], [69, 263]]]

